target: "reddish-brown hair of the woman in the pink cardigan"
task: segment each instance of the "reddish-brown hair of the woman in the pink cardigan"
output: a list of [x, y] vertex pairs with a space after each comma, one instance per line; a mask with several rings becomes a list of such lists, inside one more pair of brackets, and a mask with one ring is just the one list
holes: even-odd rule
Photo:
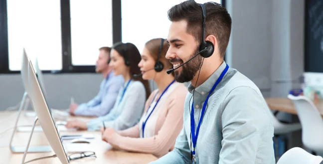
[[[155, 39], [149, 40], [145, 44], [145, 47], [151, 53], [151, 55], [155, 59], [155, 61], [157, 61], [157, 58], [158, 58], [158, 53], [161, 48], [161, 42], [162, 42], [162, 38], [155, 38]], [[161, 56], [159, 58], [159, 61], [162, 62], [163, 69], [166, 69], [166, 70], [173, 68], [173, 65], [165, 57], [166, 53], [168, 51], [168, 48], [169, 48], [169, 44], [167, 43], [167, 40], [164, 39], [164, 41], [162, 43]], [[174, 73], [172, 73], [172, 75], [175, 76]]]

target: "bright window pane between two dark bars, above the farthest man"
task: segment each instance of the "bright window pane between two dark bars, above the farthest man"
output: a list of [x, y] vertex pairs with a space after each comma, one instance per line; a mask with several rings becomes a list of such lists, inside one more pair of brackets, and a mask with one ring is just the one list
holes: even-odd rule
[[112, 1], [70, 0], [72, 65], [95, 65], [99, 48], [112, 46]]

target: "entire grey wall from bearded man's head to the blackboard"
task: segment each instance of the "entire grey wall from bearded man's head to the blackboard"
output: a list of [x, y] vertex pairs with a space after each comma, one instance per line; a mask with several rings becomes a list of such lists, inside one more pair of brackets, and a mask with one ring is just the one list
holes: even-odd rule
[[286, 97], [304, 72], [304, 0], [227, 0], [231, 67], [265, 97]]

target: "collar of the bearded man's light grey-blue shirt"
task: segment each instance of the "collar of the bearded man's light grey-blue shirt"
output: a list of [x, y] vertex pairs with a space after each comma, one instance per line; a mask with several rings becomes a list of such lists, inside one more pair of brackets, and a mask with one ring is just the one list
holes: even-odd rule
[[226, 63], [225, 61], [223, 61], [223, 63], [220, 65], [220, 67], [215, 70], [212, 75], [200, 86], [198, 86], [197, 88], [195, 88], [192, 83], [190, 83], [188, 85], [188, 92], [190, 92], [191, 94], [193, 94], [193, 90], [195, 89], [195, 92], [198, 92], [202, 95], [208, 94], [212, 88], [212, 86], [214, 85], [215, 81], [220, 77], [221, 73], [223, 72], [223, 70], [226, 67]]

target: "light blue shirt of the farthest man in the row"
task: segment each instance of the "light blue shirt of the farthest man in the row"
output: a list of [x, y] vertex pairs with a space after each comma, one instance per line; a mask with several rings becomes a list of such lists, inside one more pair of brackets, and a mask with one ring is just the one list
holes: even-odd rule
[[100, 91], [91, 101], [80, 104], [75, 115], [81, 116], [104, 116], [113, 108], [120, 88], [124, 83], [121, 75], [114, 76], [111, 71], [100, 85]]

